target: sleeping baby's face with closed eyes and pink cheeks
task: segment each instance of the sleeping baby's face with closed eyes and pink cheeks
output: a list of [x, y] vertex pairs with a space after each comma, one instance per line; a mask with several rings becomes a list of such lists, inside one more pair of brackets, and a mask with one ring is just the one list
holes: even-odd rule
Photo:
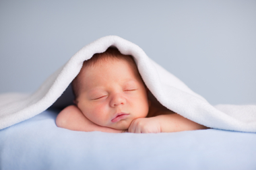
[[79, 74], [77, 107], [95, 124], [126, 130], [134, 119], [147, 116], [147, 89], [128, 61], [110, 58]]

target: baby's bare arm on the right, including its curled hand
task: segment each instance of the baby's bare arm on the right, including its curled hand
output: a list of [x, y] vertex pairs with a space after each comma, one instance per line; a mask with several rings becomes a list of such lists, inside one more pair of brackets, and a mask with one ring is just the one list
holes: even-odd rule
[[128, 132], [158, 133], [180, 132], [185, 130], [199, 130], [207, 127], [197, 124], [179, 114], [162, 114], [151, 118], [138, 118], [133, 120]]

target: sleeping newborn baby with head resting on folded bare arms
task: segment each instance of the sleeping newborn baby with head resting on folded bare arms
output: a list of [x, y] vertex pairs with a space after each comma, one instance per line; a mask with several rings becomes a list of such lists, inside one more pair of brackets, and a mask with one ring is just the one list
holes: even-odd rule
[[149, 99], [132, 56], [108, 48], [86, 60], [72, 82], [75, 105], [57, 126], [77, 131], [158, 133], [205, 129]]

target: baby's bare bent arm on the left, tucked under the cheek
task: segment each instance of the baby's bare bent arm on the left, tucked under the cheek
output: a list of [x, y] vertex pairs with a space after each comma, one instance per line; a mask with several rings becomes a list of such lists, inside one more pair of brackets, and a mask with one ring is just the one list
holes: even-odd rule
[[84, 116], [84, 114], [82, 114], [82, 112], [75, 105], [69, 105], [67, 108], [62, 110], [56, 118], [56, 124], [60, 128], [84, 132], [122, 132], [122, 130], [115, 130], [113, 128], [107, 128], [94, 124], [88, 120], [88, 118], [86, 118], [86, 116]]

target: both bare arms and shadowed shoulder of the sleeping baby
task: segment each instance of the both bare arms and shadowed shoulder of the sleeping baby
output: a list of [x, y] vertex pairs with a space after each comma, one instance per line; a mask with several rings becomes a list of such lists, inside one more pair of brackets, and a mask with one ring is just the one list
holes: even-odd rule
[[146, 118], [137, 118], [131, 122], [131, 126], [127, 130], [117, 130], [94, 124], [88, 120], [84, 114], [75, 105], [69, 105], [62, 110], [57, 116], [56, 124], [60, 128], [69, 130], [92, 132], [133, 132], [133, 133], [158, 133], [158, 132], [179, 132], [185, 130], [200, 130], [207, 127], [197, 124], [191, 120], [180, 116], [172, 111], [156, 108], [156, 105], [150, 105], [152, 110]]

